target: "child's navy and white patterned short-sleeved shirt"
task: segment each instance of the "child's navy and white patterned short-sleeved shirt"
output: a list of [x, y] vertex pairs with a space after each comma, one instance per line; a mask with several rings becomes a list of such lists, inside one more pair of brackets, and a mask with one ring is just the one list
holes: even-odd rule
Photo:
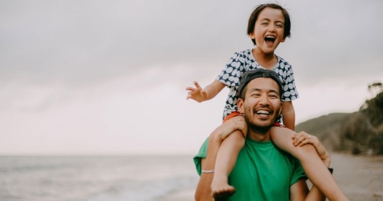
[[[226, 84], [227, 87], [230, 88], [223, 111], [223, 119], [230, 115], [230, 113], [238, 110], [237, 90], [243, 73], [252, 69], [264, 68], [254, 59], [251, 51], [251, 49], [248, 49], [234, 53], [229, 62], [226, 64], [226, 67], [216, 78], [216, 80]], [[293, 69], [287, 61], [279, 56], [277, 56], [277, 58], [278, 62], [272, 70], [279, 74], [279, 78], [282, 80], [283, 92], [281, 100], [283, 102], [289, 102], [299, 97], [298, 91], [295, 87]]]

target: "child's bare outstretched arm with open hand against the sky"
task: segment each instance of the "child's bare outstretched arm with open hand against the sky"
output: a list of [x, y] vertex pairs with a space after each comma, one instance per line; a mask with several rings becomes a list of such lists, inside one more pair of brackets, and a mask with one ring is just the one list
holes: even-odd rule
[[214, 80], [211, 84], [207, 85], [204, 89], [198, 84], [198, 82], [194, 81], [193, 87], [186, 87], [187, 96], [186, 99], [192, 98], [196, 100], [198, 103], [201, 103], [205, 100], [210, 100], [214, 96], [216, 96], [226, 85], [218, 80]]

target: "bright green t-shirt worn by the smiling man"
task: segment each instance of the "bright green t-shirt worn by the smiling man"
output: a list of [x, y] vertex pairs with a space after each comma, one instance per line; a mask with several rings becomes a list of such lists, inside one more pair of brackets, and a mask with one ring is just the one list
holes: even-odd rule
[[[194, 157], [200, 175], [208, 142], [205, 140]], [[228, 178], [236, 190], [228, 200], [289, 200], [290, 186], [300, 179], [306, 179], [306, 174], [298, 159], [275, 147], [272, 141], [247, 138]]]

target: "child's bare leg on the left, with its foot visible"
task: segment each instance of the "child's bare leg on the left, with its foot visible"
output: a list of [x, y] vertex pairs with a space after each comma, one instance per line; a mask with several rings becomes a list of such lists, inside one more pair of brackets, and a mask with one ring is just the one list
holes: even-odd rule
[[211, 184], [213, 197], [228, 197], [235, 192], [233, 186], [228, 184], [227, 177], [237, 161], [239, 151], [245, 144], [241, 131], [236, 130], [224, 139], [218, 149], [214, 177]]

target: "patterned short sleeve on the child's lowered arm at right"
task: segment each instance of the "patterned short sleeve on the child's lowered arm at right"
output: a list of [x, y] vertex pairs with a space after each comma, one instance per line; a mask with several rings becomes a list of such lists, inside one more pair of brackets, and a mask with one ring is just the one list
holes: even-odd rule
[[287, 62], [282, 62], [280, 65], [284, 65], [284, 68], [286, 71], [286, 75], [282, 75], [284, 79], [282, 80], [282, 98], [281, 100], [283, 102], [289, 102], [291, 100], [295, 100], [299, 97], [298, 91], [296, 90], [295, 86], [295, 78], [294, 78], [294, 72], [291, 67], [291, 65]]

